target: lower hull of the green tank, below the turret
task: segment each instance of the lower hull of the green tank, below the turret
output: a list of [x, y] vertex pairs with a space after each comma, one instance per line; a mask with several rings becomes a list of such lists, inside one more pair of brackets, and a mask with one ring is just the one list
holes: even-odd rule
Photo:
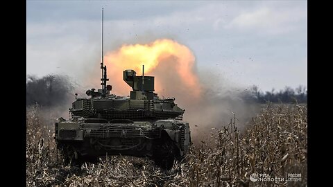
[[65, 161], [75, 164], [121, 154], [150, 157], [157, 165], [170, 168], [175, 159], [186, 154], [190, 143], [188, 123], [176, 120], [101, 122], [84, 119], [56, 123], [56, 141]]

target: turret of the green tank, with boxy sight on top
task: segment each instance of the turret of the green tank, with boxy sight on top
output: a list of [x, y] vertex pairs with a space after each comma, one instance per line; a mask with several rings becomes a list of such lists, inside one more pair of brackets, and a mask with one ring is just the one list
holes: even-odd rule
[[89, 89], [86, 94], [91, 98], [77, 98], [69, 109], [72, 118], [182, 120], [185, 109], [178, 107], [175, 98], [159, 98], [153, 92], [153, 76], [137, 76], [134, 70], [128, 69], [123, 71], [123, 80], [133, 89], [129, 97], [110, 94], [111, 89], [105, 92], [103, 89]]

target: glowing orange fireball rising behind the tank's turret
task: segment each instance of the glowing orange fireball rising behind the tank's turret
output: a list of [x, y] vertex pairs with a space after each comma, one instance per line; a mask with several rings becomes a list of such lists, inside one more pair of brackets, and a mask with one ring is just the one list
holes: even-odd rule
[[189, 48], [171, 39], [157, 39], [150, 44], [124, 44], [105, 55], [110, 84], [119, 95], [128, 95], [130, 91], [122, 80], [123, 70], [134, 69], [141, 75], [144, 65], [145, 75], [155, 76], [157, 94], [177, 97], [177, 94], [187, 92], [188, 98], [197, 98], [200, 84], [194, 73], [194, 62]]

